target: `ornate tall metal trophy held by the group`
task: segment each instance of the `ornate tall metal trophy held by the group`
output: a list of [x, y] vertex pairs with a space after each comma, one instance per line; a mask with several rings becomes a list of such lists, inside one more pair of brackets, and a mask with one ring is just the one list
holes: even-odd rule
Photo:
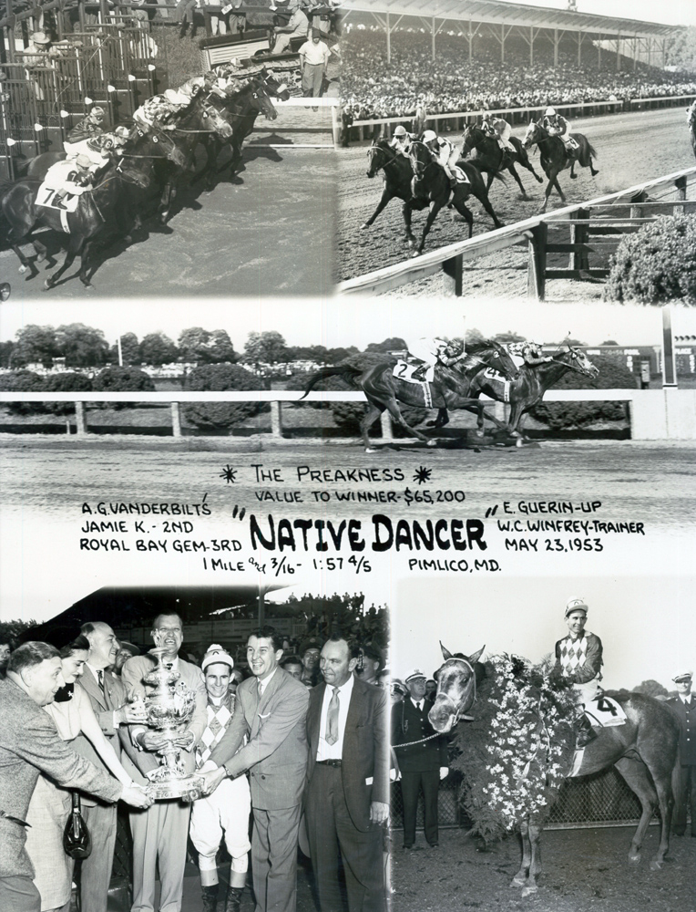
[[161, 758], [159, 767], [147, 773], [150, 781], [148, 794], [156, 801], [163, 798], [196, 801], [202, 794], [203, 779], [186, 772], [181, 750], [174, 744], [193, 715], [196, 694], [179, 680], [178, 671], [165, 667], [162, 662], [165, 651], [159, 647], [150, 650], [150, 655], [157, 658], [158, 664], [143, 678], [145, 684], [154, 688], [145, 698], [148, 723], [167, 739], [167, 745], [157, 751]]

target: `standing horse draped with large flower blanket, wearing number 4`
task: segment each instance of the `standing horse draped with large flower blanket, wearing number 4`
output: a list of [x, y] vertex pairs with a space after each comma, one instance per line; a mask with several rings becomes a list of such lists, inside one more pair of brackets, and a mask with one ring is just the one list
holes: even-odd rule
[[[476, 658], [479, 655], [476, 654]], [[435, 712], [434, 707], [429, 713], [435, 731], [450, 731], [455, 720], [466, 718], [464, 713], [471, 709], [474, 701], [472, 664], [471, 660], [466, 660], [447, 667], [445, 662], [443, 668], [446, 668], [446, 674], [438, 674], [435, 705], [440, 700], [443, 709]], [[607, 691], [605, 695], [620, 704], [626, 714], [626, 722], [595, 729], [597, 738], [589, 741], [581, 757], [576, 757], [568, 776], [586, 776], [611, 766], [620, 772], [641, 807], [640, 822], [629, 849], [629, 862], [633, 864], [640, 862], [643, 838], [653, 812], [659, 808], [660, 845], [657, 855], [650, 862], [650, 868], [655, 870], [662, 867], [670, 847], [671, 815], [680, 776], [680, 723], [667, 704], [644, 694]], [[449, 709], [450, 704], [455, 710]], [[543, 825], [530, 818], [523, 817], [520, 821], [522, 864], [512, 886], [522, 887], [523, 896], [537, 892], [537, 877], [541, 872], [539, 842]]]

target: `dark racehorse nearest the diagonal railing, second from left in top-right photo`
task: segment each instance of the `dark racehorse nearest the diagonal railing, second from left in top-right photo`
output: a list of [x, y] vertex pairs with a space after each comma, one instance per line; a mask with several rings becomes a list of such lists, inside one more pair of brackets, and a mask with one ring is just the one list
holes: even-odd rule
[[486, 184], [476, 165], [470, 161], [458, 162], [458, 167], [466, 173], [468, 183], [457, 182], [455, 189], [452, 190], [445, 170], [437, 161], [434, 161], [433, 155], [425, 145], [425, 142], [414, 140], [408, 150], [408, 156], [411, 160], [414, 177], [411, 181], [411, 199], [404, 206], [404, 221], [406, 223], [408, 243], [412, 247], [415, 246], [415, 237], [411, 232], [411, 212], [425, 209], [426, 206], [429, 209], [421, 241], [415, 247], [414, 255], [423, 253], [425, 238], [435, 222], [437, 213], [447, 203], [454, 206], [456, 211], [465, 219], [469, 226], [468, 236], [471, 237], [474, 230], [474, 216], [466, 208], [465, 201], [472, 194], [481, 202], [486, 212], [493, 219], [496, 228], [502, 227], [502, 222], [500, 222], [493, 211], [493, 207], [488, 202]]

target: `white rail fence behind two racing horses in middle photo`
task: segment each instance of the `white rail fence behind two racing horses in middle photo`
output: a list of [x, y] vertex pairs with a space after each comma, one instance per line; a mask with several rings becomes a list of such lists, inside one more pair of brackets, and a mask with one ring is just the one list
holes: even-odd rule
[[[168, 402], [172, 435], [180, 437], [182, 402], [270, 402], [271, 436], [283, 439], [282, 403], [302, 399], [301, 391], [254, 390], [253, 392], [0, 392], [0, 402], [74, 402], [77, 434], [87, 434], [87, 402]], [[486, 399], [482, 397], [482, 399]], [[309, 402], [364, 402], [363, 392], [314, 392]], [[490, 400], [488, 400], [490, 401]], [[626, 402], [632, 440], [696, 440], [696, 389], [550, 389], [545, 402]], [[382, 413], [382, 440], [392, 440], [394, 431], [387, 412]]]

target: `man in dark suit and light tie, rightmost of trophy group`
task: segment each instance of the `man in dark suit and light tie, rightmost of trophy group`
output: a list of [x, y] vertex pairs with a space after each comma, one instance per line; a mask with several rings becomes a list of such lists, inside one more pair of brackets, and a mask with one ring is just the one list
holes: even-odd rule
[[310, 691], [305, 820], [322, 912], [343, 907], [339, 850], [350, 912], [385, 912], [383, 832], [389, 816], [386, 691], [355, 678], [358, 648], [324, 644], [323, 683]]

